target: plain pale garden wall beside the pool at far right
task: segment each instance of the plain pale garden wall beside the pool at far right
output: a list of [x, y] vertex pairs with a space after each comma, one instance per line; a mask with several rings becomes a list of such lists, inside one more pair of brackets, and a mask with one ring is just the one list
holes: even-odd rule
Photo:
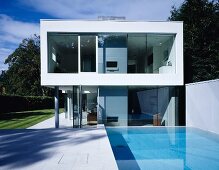
[[186, 85], [186, 126], [219, 134], [219, 79]]

